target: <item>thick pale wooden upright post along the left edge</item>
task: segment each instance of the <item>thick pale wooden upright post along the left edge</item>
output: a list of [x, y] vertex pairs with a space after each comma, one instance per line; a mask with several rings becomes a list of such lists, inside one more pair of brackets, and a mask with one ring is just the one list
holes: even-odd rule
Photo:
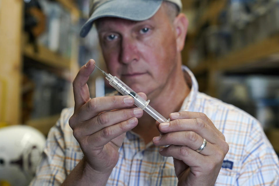
[[22, 6], [17, 0], [1, 1], [0, 6], [0, 95], [6, 95], [0, 122], [8, 124], [20, 120]]

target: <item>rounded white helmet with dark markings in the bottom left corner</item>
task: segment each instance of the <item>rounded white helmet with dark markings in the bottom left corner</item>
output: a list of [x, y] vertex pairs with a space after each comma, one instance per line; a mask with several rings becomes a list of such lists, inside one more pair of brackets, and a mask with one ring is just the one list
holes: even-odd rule
[[44, 135], [30, 126], [0, 128], [0, 183], [28, 185], [35, 176], [45, 142]]

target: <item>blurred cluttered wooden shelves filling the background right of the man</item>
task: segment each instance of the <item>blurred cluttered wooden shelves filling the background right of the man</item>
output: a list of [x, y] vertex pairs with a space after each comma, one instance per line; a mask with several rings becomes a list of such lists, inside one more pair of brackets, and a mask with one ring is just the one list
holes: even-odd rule
[[183, 1], [199, 90], [257, 118], [279, 153], [279, 1]]

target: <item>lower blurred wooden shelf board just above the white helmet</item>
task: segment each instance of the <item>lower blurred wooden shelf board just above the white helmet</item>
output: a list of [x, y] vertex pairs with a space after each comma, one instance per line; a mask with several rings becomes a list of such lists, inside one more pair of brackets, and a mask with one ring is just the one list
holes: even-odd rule
[[56, 121], [59, 119], [59, 117], [60, 114], [40, 119], [31, 119], [27, 121], [25, 124], [36, 128], [37, 130], [41, 131], [44, 135], [47, 136], [50, 128], [56, 124]]

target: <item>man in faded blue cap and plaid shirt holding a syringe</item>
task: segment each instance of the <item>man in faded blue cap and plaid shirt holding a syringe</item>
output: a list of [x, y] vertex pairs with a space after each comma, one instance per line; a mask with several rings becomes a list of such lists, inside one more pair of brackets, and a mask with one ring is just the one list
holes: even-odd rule
[[110, 74], [171, 121], [155, 123], [131, 96], [91, 99], [90, 60], [31, 185], [278, 184], [278, 158], [258, 121], [199, 93], [181, 69], [188, 22], [180, 0], [99, 0], [90, 11], [81, 36], [95, 22]]

